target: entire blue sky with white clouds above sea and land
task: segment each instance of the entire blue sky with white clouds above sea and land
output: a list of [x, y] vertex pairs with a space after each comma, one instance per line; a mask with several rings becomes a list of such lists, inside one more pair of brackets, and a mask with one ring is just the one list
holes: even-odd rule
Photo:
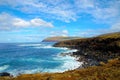
[[120, 0], [0, 0], [0, 43], [120, 32]]

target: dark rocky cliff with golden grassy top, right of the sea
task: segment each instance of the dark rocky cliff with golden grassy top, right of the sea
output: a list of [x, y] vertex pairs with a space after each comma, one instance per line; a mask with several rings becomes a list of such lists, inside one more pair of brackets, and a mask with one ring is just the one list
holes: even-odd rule
[[96, 61], [107, 61], [120, 56], [120, 32], [92, 38], [61, 41], [55, 47], [77, 49], [73, 55], [84, 56]]

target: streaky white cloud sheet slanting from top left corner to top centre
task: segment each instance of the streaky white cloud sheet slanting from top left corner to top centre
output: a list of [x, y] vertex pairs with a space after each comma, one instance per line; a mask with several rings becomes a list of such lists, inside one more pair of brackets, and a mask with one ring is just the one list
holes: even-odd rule
[[47, 14], [46, 17], [65, 22], [76, 21], [77, 18], [72, 5], [65, 0], [1, 0], [0, 5], [7, 5], [28, 14]]

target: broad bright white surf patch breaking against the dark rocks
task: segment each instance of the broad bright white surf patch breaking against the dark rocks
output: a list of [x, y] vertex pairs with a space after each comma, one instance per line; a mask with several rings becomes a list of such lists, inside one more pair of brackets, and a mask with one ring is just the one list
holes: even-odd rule
[[56, 69], [47, 69], [45, 72], [65, 72], [68, 70], [74, 70], [76, 68], [79, 68], [83, 62], [76, 61], [75, 57], [71, 56], [65, 56], [59, 58], [54, 58], [55, 60], [61, 61], [63, 64], [61, 66], [58, 66]]

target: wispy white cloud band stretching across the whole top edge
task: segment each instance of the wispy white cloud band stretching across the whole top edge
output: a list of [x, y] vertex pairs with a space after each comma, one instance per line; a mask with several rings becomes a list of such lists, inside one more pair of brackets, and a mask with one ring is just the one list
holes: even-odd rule
[[82, 14], [99, 22], [113, 22], [120, 16], [119, 0], [1, 0], [0, 5], [64, 22], [77, 21]]

